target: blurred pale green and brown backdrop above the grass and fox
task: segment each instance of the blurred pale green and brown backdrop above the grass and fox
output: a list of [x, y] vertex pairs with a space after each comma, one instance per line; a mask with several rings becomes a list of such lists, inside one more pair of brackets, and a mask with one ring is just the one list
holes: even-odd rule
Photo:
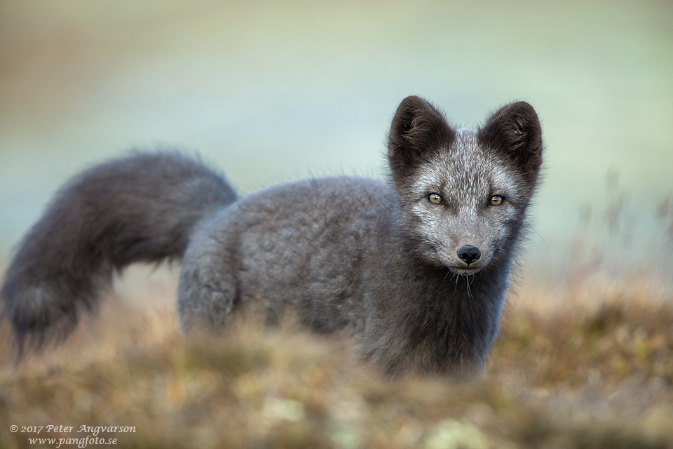
[[384, 176], [411, 94], [458, 126], [536, 108], [529, 260], [564, 260], [610, 210], [634, 247], [660, 247], [672, 18], [671, 1], [1, 1], [0, 261], [62, 182], [131, 148], [198, 152], [241, 192]]

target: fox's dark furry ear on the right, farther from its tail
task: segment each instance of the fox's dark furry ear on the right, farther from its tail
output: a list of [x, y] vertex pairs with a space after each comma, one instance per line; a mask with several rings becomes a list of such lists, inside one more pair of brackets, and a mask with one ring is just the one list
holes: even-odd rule
[[542, 165], [542, 128], [535, 109], [524, 101], [510, 103], [493, 114], [479, 130], [485, 147], [505, 154], [536, 178]]

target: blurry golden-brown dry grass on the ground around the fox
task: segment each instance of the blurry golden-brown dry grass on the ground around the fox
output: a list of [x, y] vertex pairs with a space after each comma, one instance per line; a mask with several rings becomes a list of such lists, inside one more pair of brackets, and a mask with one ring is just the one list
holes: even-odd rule
[[0, 347], [0, 448], [86, 436], [11, 424], [134, 426], [103, 435], [129, 448], [673, 448], [673, 298], [598, 277], [519, 288], [468, 384], [382, 382], [346, 342], [251, 322], [186, 342], [174, 281], [125, 285], [61, 347], [18, 367]]

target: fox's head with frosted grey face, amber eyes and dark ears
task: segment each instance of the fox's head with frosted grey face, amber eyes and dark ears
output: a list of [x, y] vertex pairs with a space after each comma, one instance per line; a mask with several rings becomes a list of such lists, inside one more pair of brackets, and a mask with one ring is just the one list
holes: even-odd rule
[[542, 130], [526, 102], [482, 128], [458, 129], [422, 98], [402, 100], [388, 161], [403, 232], [421, 260], [475, 274], [507, 260], [519, 239], [542, 164]]

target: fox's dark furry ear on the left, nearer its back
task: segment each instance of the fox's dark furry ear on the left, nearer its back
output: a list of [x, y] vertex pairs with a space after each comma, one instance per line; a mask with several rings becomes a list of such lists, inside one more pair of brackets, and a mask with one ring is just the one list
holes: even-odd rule
[[444, 116], [412, 95], [397, 107], [388, 135], [388, 160], [393, 173], [409, 168], [449, 145], [456, 133]]

